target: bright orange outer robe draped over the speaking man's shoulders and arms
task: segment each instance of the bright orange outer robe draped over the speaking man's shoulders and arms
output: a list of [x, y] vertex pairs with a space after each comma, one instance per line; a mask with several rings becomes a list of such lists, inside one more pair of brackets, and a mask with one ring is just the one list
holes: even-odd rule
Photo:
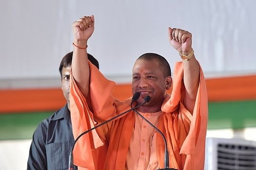
[[[89, 67], [93, 113], [79, 91], [71, 71], [70, 108], [75, 138], [99, 123], [130, 109], [131, 99], [123, 102], [115, 100], [111, 96], [115, 83], [107, 80], [91, 63]], [[201, 68], [193, 113], [186, 110], [183, 105], [184, 93], [183, 64], [177, 62], [174, 68], [173, 90], [165, 97], [157, 128], [167, 139], [169, 167], [178, 170], [203, 170], [208, 107]], [[97, 170], [99, 164], [105, 162], [105, 170], [124, 170], [133, 135], [134, 114], [130, 111], [118, 120], [111, 121], [81, 137], [74, 149], [74, 164], [87, 170]], [[165, 144], [160, 134], [156, 135], [156, 150], [159, 167], [164, 168]]]

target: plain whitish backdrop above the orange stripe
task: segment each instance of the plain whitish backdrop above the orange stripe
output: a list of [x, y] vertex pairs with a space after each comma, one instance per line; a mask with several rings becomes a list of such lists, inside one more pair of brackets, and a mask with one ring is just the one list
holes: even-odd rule
[[254, 0], [2, 0], [0, 81], [34, 80], [32, 87], [42, 83], [38, 79], [59, 81], [59, 62], [73, 49], [72, 22], [91, 14], [95, 31], [88, 51], [111, 80], [130, 82], [134, 60], [145, 52], [165, 56], [171, 67], [180, 60], [167, 27], [193, 34], [206, 76], [256, 73], [255, 5]]

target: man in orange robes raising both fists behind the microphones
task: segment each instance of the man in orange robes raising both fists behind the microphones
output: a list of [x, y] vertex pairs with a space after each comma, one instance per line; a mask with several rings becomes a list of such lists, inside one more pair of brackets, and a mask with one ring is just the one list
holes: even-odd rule
[[[75, 138], [132, 105], [131, 98], [123, 102], [114, 99], [111, 91], [115, 83], [88, 61], [87, 41], [93, 31], [93, 15], [73, 23], [70, 106]], [[171, 46], [182, 59], [175, 64], [174, 79], [164, 57], [143, 54], [133, 67], [132, 92], [139, 92], [140, 97], [132, 106], [143, 103], [146, 96], [151, 98], [136, 111], [167, 139], [170, 168], [203, 170], [208, 119], [204, 75], [192, 49], [192, 34], [176, 28], [168, 28], [168, 33]], [[101, 147], [102, 154], [95, 156], [94, 150]], [[95, 170], [104, 161], [104, 170], [164, 169], [164, 152], [161, 135], [130, 111], [80, 138], [74, 149], [74, 164], [86, 170]]]

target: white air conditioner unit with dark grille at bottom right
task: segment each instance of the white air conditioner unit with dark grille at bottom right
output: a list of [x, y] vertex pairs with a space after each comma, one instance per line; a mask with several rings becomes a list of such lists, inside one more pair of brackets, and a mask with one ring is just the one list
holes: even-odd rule
[[256, 142], [206, 138], [204, 170], [256, 170]]

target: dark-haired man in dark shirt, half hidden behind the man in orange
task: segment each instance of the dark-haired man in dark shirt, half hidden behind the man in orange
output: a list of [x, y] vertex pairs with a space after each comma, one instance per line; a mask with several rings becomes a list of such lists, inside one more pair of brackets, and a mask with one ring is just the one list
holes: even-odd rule
[[[67, 104], [52, 116], [40, 122], [33, 133], [27, 170], [67, 170], [68, 157], [74, 143], [70, 119], [69, 75], [73, 51], [61, 60], [61, 90]], [[99, 62], [90, 54], [88, 59], [99, 69]], [[77, 168], [75, 168], [77, 169]]]

